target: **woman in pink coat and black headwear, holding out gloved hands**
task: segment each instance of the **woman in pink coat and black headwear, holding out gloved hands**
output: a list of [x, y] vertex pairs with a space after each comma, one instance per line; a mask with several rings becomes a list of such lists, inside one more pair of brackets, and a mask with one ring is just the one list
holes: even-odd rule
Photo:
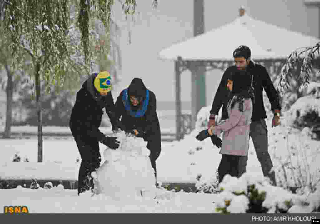
[[249, 150], [249, 133], [254, 100], [250, 95], [251, 76], [245, 71], [232, 74], [227, 83], [231, 91], [227, 111], [229, 118], [217, 126], [201, 131], [197, 140], [219, 136], [223, 132], [220, 149], [222, 158], [219, 164], [219, 183], [226, 174], [239, 177], [239, 160], [247, 156]]

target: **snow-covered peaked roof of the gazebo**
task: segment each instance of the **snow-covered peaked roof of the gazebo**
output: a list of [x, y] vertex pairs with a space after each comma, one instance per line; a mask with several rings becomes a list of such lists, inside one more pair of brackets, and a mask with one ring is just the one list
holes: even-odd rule
[[232, 53], [239, 45], [251, 49], [253, 60], [285, 59], [300, 47], [314, 46], [320, 39], [279, 28], [247, 14], [207, 33], [174, 44], [162, 50], [162, 59], [233, 60]]

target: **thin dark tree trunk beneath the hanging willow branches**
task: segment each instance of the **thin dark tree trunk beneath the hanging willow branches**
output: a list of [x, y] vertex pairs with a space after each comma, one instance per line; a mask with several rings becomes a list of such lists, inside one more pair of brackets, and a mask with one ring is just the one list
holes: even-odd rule
[[38, 114], [38, 163], [43, 162], [43, 147], [42, 147], [42, 105], [41, 105], [41, 86], [40, 86], [40, 63], [36, 64], [36, 105]]

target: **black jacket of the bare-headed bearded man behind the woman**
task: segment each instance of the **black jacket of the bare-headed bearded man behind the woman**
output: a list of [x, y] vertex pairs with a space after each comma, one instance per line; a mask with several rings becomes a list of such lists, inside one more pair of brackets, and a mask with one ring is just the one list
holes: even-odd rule
[[[213, 100], [210, 114], [218, 115], [219, 110], [222, 107], [221, 119], [228, 119], [227, 104], [229, 100], [229, 90], [227, 88], [228, 77], [231, 73], [236, 71], [236, 66], [227, 68], [224, 72], [220, 85]], [[253, 76], [253, 88], [255, 103], [253, 105], [252, 121], [267, 118], [266, 110], [263, 103], [263, 89], [266, 91], [268, 99], [271, 104], [271, 110], [281, 110], [279, 95], [270, 79], [270, 76], [265, 67], [259, 64], [255, 64], [250, 61], [247, 71]]]

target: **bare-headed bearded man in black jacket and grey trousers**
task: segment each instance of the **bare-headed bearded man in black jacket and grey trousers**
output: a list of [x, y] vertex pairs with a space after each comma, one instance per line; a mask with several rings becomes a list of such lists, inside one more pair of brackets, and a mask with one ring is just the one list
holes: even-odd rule
[[[230, 74], [238, 70], [246, 70], [252, 76], [252, 95], [254, 94], [253, 113], [250, 125], [250, 136], [252, 138], [254, 148], [261, 164], [264, 176], [268, 176], [276, 185], [275, 172], [270, 172], [273, 167], [269, 152], [268, 152], [268, 129], [265, 119], [267, 118], [266, 110], [263, 103], [263, 89], [266, 91], [271, 104], [271, 109], [274, 112], [272, 127], [280, 124], [280, 101], [278, 93], [270, 79], [270, 76], [265, 67], [255, 64], [250, 60], [251, 51], [249, 47], [241, 45], [234, 52], [234, 66], [226, 69], [224, 72], [218, 90], [213, 100], [212, 109], [210, 110], [208, 127], [215, 125], [215, 116], [218, 115], [222, 107], [222, 120], [228, 119], [226, 103], [228, 103], [229, 92], [226, 88], [227, 80]], [[240, 175], [246, 172], [246, 164], [248, 157], [244, 157], [240, 163]]]

